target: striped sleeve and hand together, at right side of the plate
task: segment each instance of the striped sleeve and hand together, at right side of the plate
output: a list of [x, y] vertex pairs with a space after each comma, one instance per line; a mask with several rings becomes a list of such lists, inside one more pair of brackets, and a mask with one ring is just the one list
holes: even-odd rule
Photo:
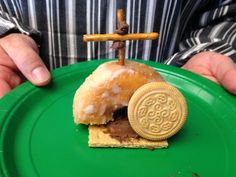
[[185, 36], [179, 45], [180, 52], [166, 64], [200, 74], [236, 94], [235, 12], [236, 4], [203, 14], [201, 28]]

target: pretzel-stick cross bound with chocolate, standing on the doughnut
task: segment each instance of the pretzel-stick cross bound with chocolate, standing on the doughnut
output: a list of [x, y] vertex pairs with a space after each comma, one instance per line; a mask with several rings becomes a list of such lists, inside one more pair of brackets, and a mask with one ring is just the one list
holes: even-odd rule
[[125, 41], [126, 40], [155, 40], [158, 33], [130, 33], [128, 34], [128, 25], [124, 20], [122, 9], [117, 11], [118, 30], [114, 34], [86, 34], [83, 36], [84, 42], [90, 41], [114, 41], [112, 48], [118, 49], [118, 62], [125, 64]]

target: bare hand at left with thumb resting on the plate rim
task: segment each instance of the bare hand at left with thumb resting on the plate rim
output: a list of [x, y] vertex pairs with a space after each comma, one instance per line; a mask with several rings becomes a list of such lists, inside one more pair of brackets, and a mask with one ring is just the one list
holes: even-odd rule
[[25, 78], [36, 86], [50, 82], [50, 73], [30, 37], [13, 33], [0, 38], [0, 98]]

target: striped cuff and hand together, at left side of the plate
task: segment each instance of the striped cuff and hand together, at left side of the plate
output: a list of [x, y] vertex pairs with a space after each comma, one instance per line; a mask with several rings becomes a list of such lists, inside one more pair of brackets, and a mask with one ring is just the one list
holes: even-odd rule
[[25, 78], [43, 86], [50, 74], [38, 55], [40, 33], [0, 11], [0, 98]]

